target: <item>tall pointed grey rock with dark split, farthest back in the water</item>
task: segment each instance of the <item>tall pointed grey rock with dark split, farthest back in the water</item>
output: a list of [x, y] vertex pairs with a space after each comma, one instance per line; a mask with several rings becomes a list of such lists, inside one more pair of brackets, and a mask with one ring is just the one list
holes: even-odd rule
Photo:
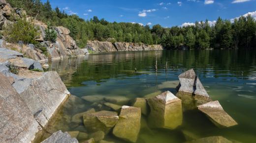
[[201, 99], [202, 103], [211, 101], [210, 96], [205, 91], [193, 69], [180, 74], [179, 80], [180, 84], [176, 88], [178, 92], [192, 94], [195, 98]]

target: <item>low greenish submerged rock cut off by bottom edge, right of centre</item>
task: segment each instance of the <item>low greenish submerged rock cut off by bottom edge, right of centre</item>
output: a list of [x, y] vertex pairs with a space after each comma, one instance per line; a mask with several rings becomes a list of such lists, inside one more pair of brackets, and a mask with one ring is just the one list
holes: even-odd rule
[[222, 136], [206, 137], [187, 143], [233, 143]]

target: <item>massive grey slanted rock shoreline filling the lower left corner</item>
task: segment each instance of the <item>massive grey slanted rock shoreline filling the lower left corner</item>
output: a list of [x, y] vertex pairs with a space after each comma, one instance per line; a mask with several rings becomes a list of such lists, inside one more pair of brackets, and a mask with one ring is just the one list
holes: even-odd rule
[[68, 98], [56, 71], [0, 48], [0, 143], [30, 143]]

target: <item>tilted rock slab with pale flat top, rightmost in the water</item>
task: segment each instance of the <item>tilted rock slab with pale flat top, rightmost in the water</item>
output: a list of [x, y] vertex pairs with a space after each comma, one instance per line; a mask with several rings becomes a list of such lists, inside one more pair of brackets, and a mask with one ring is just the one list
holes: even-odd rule
[[230, 127], [237, 125], [237, 122], [224, 111], [219, 101], [208, 102], [197, 107], [218, 127]]

